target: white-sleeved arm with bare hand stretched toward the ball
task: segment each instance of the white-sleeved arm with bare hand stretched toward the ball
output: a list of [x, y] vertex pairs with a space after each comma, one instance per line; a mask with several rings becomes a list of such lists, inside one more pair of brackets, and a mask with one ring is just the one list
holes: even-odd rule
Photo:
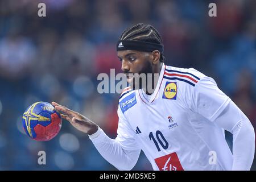
[[135, 166], [141, 150], [137, 147], [132, 135], [129, 134], [129, 127], [125, 122], [120, 122], [122, 121], [121, 115], [119, 116], [118, 136], [116, 139], [111, 139], [96, 123], [84, 115], [56, 102], [52, 102], [52, 105], [62, 113], [62, 118], [69, 121], [77, 130], [88, 134], [98, 152], [114, 167], [119, 170], [130, 170]]

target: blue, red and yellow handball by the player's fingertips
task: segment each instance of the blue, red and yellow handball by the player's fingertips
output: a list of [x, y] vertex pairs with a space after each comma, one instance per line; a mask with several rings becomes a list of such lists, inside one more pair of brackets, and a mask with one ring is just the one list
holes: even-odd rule
[[48, 141], [59, 133], [61, 117], [48, 102], [36, 102], [24, 112], [22, 125], [28, 137]]

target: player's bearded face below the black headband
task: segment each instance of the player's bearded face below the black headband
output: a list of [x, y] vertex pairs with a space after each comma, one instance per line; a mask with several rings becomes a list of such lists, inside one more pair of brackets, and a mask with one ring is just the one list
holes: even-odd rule
[[[127, 77], [127, 82], [133, 89], [141, 89], [143, 84], [147, 84], [146, 80], [135, 79], [134, 73], [138, 73], [142, 76], [144, 73], [147, 76], [148, 73], [152, 73], [152, 55], [150, 52], [141, 51], [117, 51], [117, 56], [122, 61], [122, 71]], [[143, 81], [146, 81], [142, 84]]]

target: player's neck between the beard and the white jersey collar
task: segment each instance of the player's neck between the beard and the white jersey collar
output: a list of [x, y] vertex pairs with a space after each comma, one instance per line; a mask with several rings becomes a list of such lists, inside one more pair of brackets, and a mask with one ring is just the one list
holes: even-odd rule
[[[147, 95], [151, 95], [152, 93], [154, 93], [156, 85], [158, 84], [162, 65], [163, 63], [155, 65], [155, 67], [153, 68], [152, 80], [147, 82], [147, 88], [142, 88]], [[148, 88], [151, 88], [151, 89], [148, 89]]]

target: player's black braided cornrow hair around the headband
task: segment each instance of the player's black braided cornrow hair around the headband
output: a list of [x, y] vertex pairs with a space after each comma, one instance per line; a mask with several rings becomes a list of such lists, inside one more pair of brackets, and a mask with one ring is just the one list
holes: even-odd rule
[[[150, 24], [139, 23], [133, 27], [127, 28], [122, 32], [119, 40], [139, 40], [142, 42], [150, 42], [163, 45], [163, 39], [159, 32]], [[160, 54], [160, 62], [164, 62], [166, 58]]]

